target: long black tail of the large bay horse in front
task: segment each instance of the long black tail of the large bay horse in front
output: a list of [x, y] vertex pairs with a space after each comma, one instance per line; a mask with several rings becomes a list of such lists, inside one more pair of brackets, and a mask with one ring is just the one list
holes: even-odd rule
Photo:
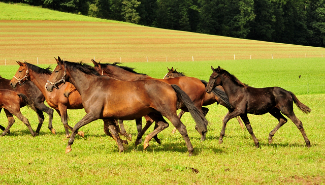
[[196, 107], [193, 101], [189, 98], [189, 96], [177, 85], [171, 85], [178, 99], [178, 103], [183, 104], [188, 109], [189, 113], [193, 117], [194, 121], [197, 124], [197, 128], [199, 133], [204, 134], [207, 132], [208, 120], [205, 118], [202, 110]]

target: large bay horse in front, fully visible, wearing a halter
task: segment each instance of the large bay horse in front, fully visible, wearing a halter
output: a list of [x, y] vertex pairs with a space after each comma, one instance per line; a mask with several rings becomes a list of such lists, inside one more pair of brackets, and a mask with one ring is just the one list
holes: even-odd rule
[[[48, 79], [45, 88], [52, 91], [54, 84], [63, 83], [62, 79], [69, 81], [79, 91], [86, 111], [86, 115], [77, 122], [72, 131], [66, 153], [72, 150], [71, 145], [74, 142], [76, 132], [82, 126], [96, 119], [133, 120], [148, 115], [156, 121], [158, 127], [146, 137], [144, 141], [144, 149], [146, 149], [152, 137], [169, 126], [163, 117], [165, 116], [183, 136], [189, 156], [192, 156], [193, 147], [187, 135], [186, 127], [178, 118], [176, 110], [179, 108], [188, 109], [196, 121], [198, 132], [202, 135], [207, 132], [208, 121], [201, 109], [198, 109], [188, 95], [177, 85], [152, 79], [120, 81], [108, 76], [101, 76], [93, 67], [82, 62], [62, 61], [60, 57], [56, 61], [57, 66]], [[114, 126], [111, 126], [109, 129], [112, 132]], [[119, 142], [119, 138], [117, 137], [115, 141], [120, 152], [122, 152], [124, 148]]]

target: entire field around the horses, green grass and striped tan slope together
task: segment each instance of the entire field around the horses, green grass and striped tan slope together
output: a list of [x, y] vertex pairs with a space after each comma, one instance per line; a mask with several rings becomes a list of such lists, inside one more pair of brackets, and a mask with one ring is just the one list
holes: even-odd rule
[[[21, 5], [0, 3], [0, 8], [4, 10], [0, 12], [0, 75], [4, 78], [11, 79], [16, 73], [16, 60], [37, 64], [37, 57], [44, 68], [54, 68], [56, 56], [86, 63], [93, 57], [102, 63], [122, 61], [155, 78], [163, 78], [167, 67], [174, 67], [187, 76], [208, 80], [212, 65], [254, 87], [280, 86], [293, 91], [312, 109], [306, 115], [294, 105], [310, 148], [292, 121], [269, 145], [268, 134], [277, 125], [270, 114], [248, 115], [261, 148], [254, 147], [250, 134], [242, 131], [235, 119], [230, 120], [219, 145], [221, 120], [227, 110], [217, 104], [208, 106], [211, 125], [207, 140], [200, 142], [194, 121], [186, 113], [182, 121], [194, 147], [192, 157], [188, 157], [181, 135], [171, 133], [172, 125], [158, 134], [161, 145], [151, 141], [143, 150], [142, 144], [134, 145], [135, 121], [125, 121], [133, 141], [119, 154], [115, 141], [104, 134], [103, 122], [93, 121], [80, 129], [85, 137], [77, 136], [73, 150], [66, 155], [68, 139], [57, 113], [53, 118], [56, 135], [47, 129], [47, 115], [35, 138], [16, 119], [11, 134], [0, 138], [0, 184], [325, 183], [324, 48], [99, 22], [102, 20]], [[36, 113], [27, 108], [22, 108], [22, 113], [35, 130]], [[69, 124], [74, 126], [85, 112], [69, 110], [68, 114]], [[0, 125], [7, 126], [4, 113], [0, 114]]]

